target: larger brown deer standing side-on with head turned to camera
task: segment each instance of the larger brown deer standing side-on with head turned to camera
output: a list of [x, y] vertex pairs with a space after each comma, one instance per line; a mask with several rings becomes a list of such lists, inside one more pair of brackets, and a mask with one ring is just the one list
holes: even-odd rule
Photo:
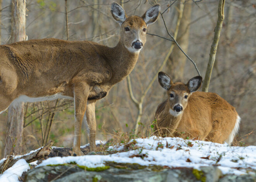
[[121, 33], [118, 44], [112, 48], [92, 41], [54, 38], [1, 45], [0, 113], [11, 103], [72, 99], [73, 155], [83, 155], [80, 150], [83, 121], [90, 151], [94, 151], [95, 104], [131, 73], [145, 45], [147, 27], [156, 22], [160, 10], [156, 4], [141, 17], [127, 16], [121, 5], [113, 2], [111, 14]]

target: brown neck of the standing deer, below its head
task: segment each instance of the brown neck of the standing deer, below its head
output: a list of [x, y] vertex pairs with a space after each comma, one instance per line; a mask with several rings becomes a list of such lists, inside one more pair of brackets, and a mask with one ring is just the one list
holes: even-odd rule
[[112, 56], [109, 59], [112, 68], [111, 83], [115, 84], [128, 76], [135, 67], [139, 52], [132, 53], [119, 41], [116, 47], [112, 48]]

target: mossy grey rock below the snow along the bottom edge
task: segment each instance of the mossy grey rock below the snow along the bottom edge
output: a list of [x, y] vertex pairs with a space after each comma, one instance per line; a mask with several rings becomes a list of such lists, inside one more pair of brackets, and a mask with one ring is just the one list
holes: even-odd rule
[[[87, 168], [76, 164], [43, 166], [29, 170], [26, 182], [216, 182], [221, 176], [217, 167], [168, 168], [138, 164], [106, 163], [108, 169]], [[90, 170], [90, 171], [88, 171]], [[95, 171], [92, 171], [95, 170]]]

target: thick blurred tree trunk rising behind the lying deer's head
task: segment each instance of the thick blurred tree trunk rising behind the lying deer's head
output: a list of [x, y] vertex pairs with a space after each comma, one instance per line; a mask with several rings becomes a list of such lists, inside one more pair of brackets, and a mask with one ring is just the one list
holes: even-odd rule
[[[177, 42], [185, 53], [187, 53], [189, 46], [189, 29], [191, 18], [192, 1], [187, 1], [184, 4], [184, 10], [182, 19], [180, 21], [180, 27], [177, 35]], [[167, 62], [167, 72], [170, 74], [173, 80], [183, 81], [183, 72], [187, 57], [180, 51], [178, 46], [173, 48], [173, 52], [169, 56]]]

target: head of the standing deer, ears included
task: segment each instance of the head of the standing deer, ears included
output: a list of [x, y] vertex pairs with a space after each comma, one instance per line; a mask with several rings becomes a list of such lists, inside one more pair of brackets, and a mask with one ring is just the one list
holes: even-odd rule
[[142, 17], [127, 16], [125, 10], [116, 2], [111, 5], [111, 13], [121, 26], [120, 41], [132, 53], [139, 53], [146, 42], [147, 26], [154, 23], [160, 13], [160, 5], [148, 9]]

